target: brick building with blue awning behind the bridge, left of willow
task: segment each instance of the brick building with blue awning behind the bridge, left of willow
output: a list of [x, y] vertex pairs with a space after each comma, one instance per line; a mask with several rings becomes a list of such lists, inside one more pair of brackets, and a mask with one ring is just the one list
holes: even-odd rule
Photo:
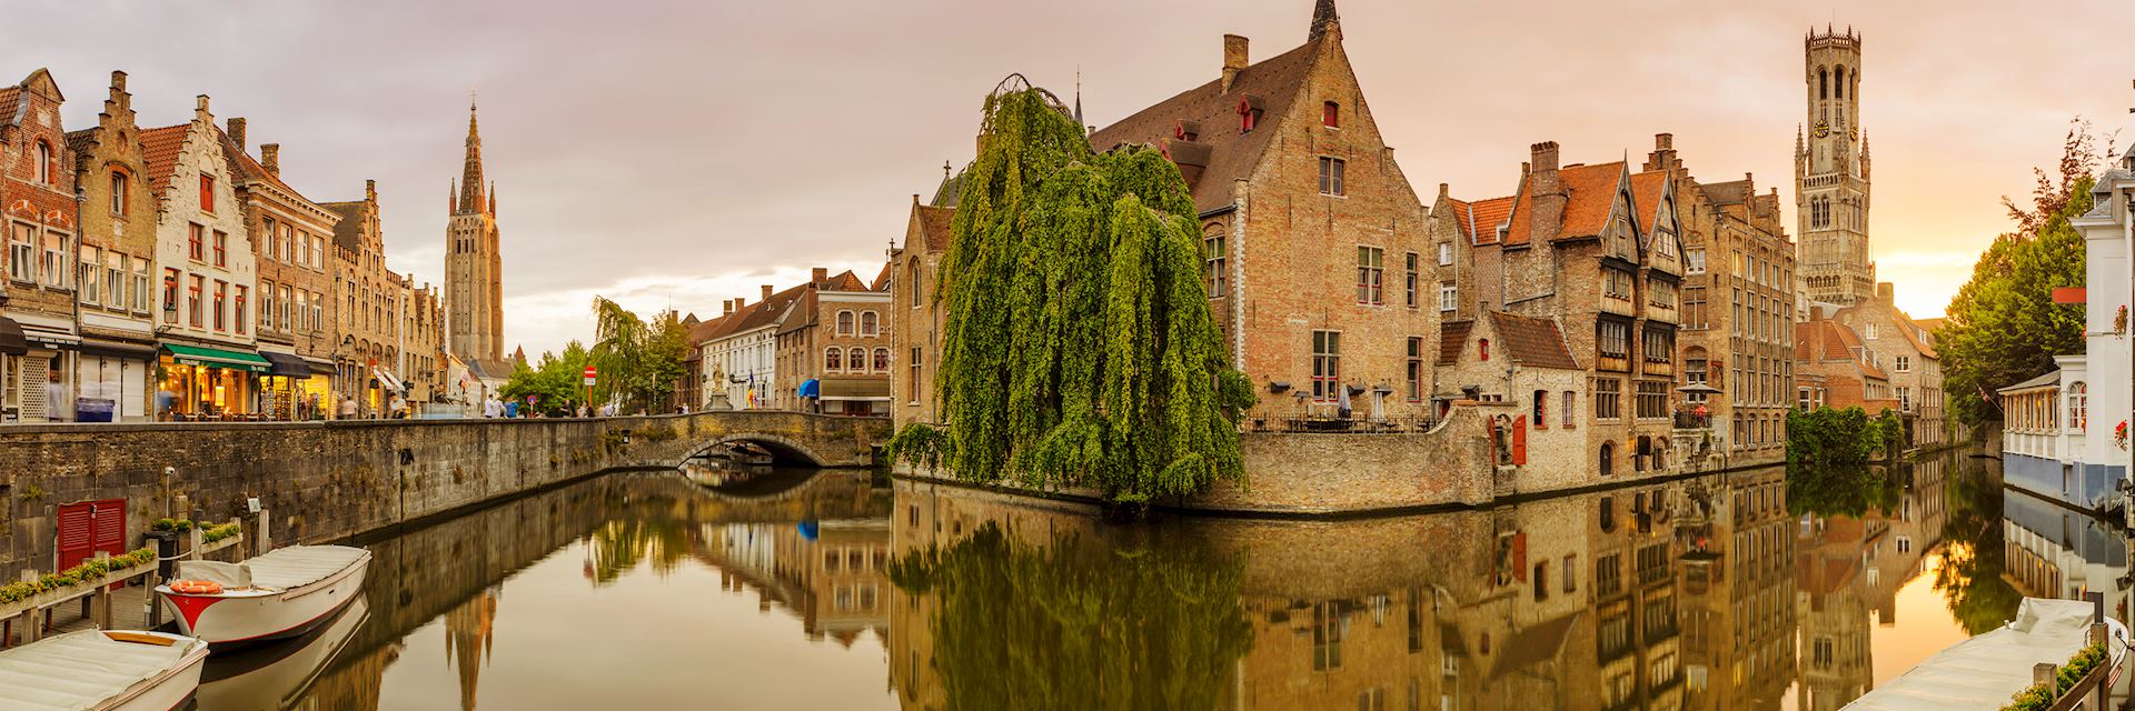
[[888, 310], [888, 290], [852, 271], [816, 267], [775, 331], [777, 401], [828, 414], [890, 414]]

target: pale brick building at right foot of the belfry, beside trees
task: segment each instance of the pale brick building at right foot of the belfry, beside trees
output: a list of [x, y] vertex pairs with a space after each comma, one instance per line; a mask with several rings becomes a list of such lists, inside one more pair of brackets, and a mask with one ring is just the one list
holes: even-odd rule
[[1934, 333], [1898, 310], [1889, 282], [1875, 288], [1872, 299], [1855, 301], [1830, 314], [1860, 335], [1868, 363], [1889, 376], [1889, 399], [1904, 418], [1907, 446], [1949, 442], [1943, 418], [1943, 357], [1934, 352]]

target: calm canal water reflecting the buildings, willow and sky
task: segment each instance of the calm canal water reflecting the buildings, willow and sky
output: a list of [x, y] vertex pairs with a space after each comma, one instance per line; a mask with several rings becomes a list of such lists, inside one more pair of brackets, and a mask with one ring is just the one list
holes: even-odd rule
[[224, 709], [1836, 709], [2105, 591], [1992, 459], [1371, 521], [1153, 517], [865, 472], [608, 474], [361, 540], [367, 596]]

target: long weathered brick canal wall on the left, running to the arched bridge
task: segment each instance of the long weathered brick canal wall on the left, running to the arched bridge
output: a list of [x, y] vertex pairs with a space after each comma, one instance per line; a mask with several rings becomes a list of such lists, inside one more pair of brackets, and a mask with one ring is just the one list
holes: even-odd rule
[[886, 438], [888, 418], [801, 412], [0, 427], [0, 581], [56, 566], [68, 502], [124, 500], [128, 547], [154, 519], [224, 521], [248, 497], [271, 510], [275, 544], [320, 542], [596, 472], [673, 468], [730, 440], [867, 465]]

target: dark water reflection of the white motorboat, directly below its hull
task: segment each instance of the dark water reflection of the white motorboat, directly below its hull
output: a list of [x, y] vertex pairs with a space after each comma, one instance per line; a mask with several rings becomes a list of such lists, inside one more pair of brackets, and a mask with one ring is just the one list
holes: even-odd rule
[[369, 619], [369, 606], [359, 596], [354, 604], [303, 636], [235, 655], [218, 655], [201, 675], [201, 709], [295, 709], [303, 692], [327, 673], [327, 664], [333, 664], [342, 647], [348, 647], [365, 619]]

